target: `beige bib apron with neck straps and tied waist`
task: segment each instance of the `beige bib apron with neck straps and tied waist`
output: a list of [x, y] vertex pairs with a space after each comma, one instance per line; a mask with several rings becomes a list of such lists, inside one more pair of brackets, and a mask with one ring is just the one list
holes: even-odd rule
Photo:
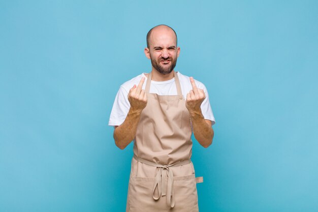
[[178, 75], [178, 95], [150, 94], [151, 73], [146, 82], [147, 106], [143, 109], [134, 141], [134, 158], [126, 211], [194, 212], [198, 209], [192, 155], [192, 127]]

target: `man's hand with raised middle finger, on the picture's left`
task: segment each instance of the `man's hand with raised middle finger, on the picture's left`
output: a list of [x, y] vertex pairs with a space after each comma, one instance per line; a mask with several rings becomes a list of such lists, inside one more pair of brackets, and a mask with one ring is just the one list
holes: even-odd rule
[[128, 93], [128, 100], [131, 110], [134, 112], [141, 112], [147, 105], [147, 94], [142, 89], [145, 77], [142, 77], [138, 86], [134, 85]]

